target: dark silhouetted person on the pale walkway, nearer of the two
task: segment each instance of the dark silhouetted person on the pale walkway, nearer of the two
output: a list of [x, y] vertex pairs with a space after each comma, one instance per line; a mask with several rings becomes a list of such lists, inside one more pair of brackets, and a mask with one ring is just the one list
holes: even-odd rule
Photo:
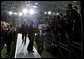
[[28, 26], [28, 37], [29, 37], [30, 42], [29, 42], [29, 45], [27, 47], [27, 50], [28, 50], [29, 53], [34, 52], [33, 51], [33, 41], [34, 41], [34, 28], [33, 28], [33, 25], [34, 25], [34, 23], [33, 23], [33, 21], [31, 21], [31, 23]]

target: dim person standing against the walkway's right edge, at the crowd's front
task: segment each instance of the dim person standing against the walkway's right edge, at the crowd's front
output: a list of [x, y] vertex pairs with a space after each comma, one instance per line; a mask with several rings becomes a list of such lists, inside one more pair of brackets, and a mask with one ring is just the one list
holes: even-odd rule
[[44, 35], [42, 33], [42, 29], [38, 31], [37, 39], [36, 39], [38, 53], [41, 55], [44, 50]]

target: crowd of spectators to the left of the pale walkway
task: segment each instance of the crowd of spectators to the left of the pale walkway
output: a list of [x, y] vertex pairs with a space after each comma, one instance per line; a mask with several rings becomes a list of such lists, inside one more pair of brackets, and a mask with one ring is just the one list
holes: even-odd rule
[[[5, 21], [1, 21], [1, 50], [6, 45], [7, 55], [11, 56], [15, 54], [17, 39], [16, 27], [17, 26], [11, 25]], [[12, 42], [14, 43], [14, 48], [11, 48]]]

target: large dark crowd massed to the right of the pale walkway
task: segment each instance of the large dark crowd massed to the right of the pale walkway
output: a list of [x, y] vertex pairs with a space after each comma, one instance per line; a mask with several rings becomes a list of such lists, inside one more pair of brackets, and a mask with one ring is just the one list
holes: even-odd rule
[[[78, 7], [69, 4], [65, 13], [59, 13], [51, 18], [51, 22], [46, 22], [46, 29], [37, 31], [36, 43], [38, 46], [39, 54], [44, 49], [49, 50], [57, 47], [60, 50], [61, 44], [67, 45], [70, 50], [68, 57], [71, 56], [71, 49], [73, 49], [74, 42], [81, 44], [81, 15], [78, 11]], [[42, 32], [42, 33], [41, 33]], [[56, 49], [54, 49], [54, 53]], [[81, 48], [79, 49], [79, 51]], [[60, 53], [60, 52], [58, 52]], [[66, 54], [66, 53], [65, 53]], [[78, 56], [80, 57], [81, 51]], [[67, 56], [66, 56], [67, 57]]]

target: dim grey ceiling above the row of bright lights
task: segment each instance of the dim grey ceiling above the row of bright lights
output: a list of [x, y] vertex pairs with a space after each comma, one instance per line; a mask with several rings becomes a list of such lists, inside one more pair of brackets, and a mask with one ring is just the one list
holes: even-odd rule
[[1, 12], [7, 12], [9, 10], [18, 11], [20, 8], [28, 3], [38, 3], [40, 11], [56, 11], [65, 10], [69, 3], [73, 1], [1, 1]]

